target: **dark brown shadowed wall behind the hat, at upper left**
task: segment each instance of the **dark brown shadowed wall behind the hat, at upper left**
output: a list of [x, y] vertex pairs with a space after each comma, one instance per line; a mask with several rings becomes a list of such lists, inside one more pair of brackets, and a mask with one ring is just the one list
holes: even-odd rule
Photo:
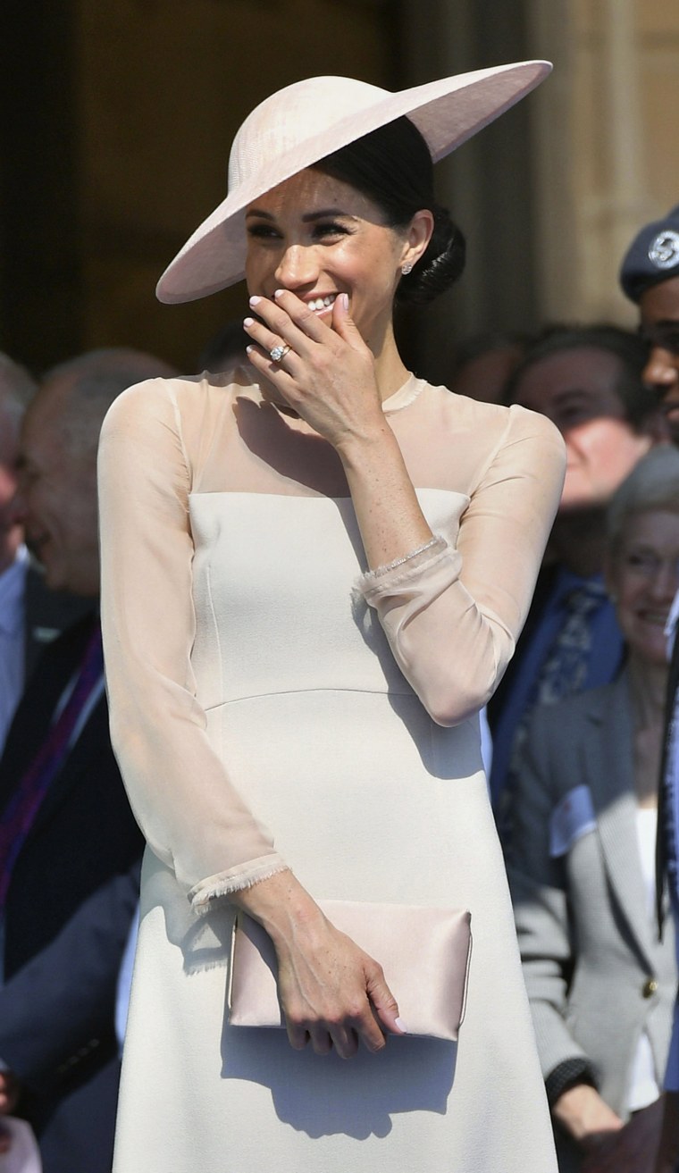
[[243, 286], [186, 306], [154, 289], [226, 194], [230, 142], [280, 86], [314, 74], [392, 84], [374, 0], [77, 0], [84, 346], [134, 344], [193, 368], [245, 312]]

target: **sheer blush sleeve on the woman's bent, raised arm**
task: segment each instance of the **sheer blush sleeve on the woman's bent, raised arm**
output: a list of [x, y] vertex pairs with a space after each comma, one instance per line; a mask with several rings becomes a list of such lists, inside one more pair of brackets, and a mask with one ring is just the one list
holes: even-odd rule
[[511, 408], [456, 542], [437, 543], [413, 562], [361, 582], [399, 667], [440, 725], [456, 725], [481, 708], [507, 667], [558, 507], [564, 467], [563, 440], [554, 425]]

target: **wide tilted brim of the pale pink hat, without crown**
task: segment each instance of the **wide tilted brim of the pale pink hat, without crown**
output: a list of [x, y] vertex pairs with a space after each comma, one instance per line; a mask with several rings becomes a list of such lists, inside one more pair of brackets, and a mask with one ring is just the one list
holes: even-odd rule
[[245, 209], [304, 168], [402, 115], [415, 123], [436, 163], [535, 89], [550, 70], [548, 61], [521, 61], [396, 94], [376, 90], [380, 96], [364, 110], [339, 117], [231, 191], [168, 265], [156, 286], [158, 300], [193, 301], [240, 280], [246, 252]]

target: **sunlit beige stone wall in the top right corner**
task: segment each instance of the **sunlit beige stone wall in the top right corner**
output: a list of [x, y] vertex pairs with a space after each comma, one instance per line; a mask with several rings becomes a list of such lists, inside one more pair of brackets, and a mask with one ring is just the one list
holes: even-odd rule
[[555, 61], [535, 154], [544, 317], [632, 323], [620, 257], [679, 203], [679, 6], [531, 0], [530, 20]]

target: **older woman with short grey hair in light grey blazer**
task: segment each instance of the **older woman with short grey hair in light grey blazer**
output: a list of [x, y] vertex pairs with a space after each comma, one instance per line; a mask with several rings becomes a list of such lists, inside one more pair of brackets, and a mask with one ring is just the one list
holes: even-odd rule
[[606, 579], [625, 667], [534, 718], [509, 876], [559, 1168], [643, 1173], [677, 994], [671, 924], [658, 941], [654, 850], [665, 624], [679, 586], [675, 448], [652, 449], [613, 496]]

